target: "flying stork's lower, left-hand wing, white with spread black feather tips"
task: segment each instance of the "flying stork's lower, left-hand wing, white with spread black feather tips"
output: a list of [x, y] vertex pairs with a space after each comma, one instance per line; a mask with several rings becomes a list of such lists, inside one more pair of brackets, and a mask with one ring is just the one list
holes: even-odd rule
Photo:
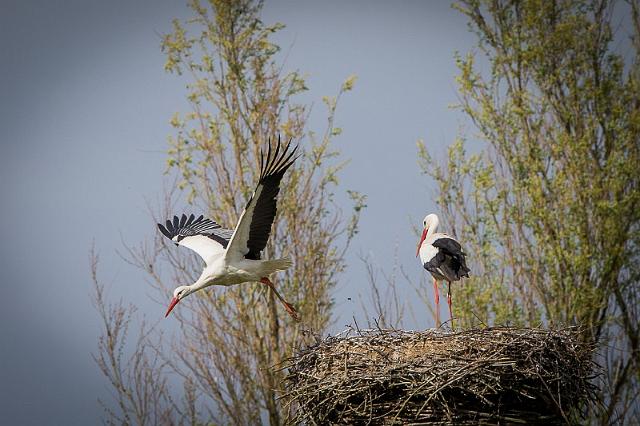
[[205, 219], [204, 216], [196, 217], [192, 214], [187, 218], [173, 217], [173, 222], [167, 220], [166, 226], [158, 224], [162, 234], [176, 245], [190, 248], [209, 264], [211, 259], [224, 253], [233, 235], [231, 229], [224, 229], [214, 221]]

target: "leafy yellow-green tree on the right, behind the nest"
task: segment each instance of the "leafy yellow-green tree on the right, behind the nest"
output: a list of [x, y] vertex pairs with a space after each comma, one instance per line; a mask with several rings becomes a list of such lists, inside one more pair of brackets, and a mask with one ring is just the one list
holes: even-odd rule
[[[419, 143], [473, 265], [456, 317], [582, 326], [606, 370], [592, 413], [602, 424], [640, 417], [638, 5], [463, 0], [490, 65], [484, 75], [477, 55], [457, 58], [459, 107], [482, 150], [461, 136], [440, 165]], [[634, 24], [623, 53], [614, 6]]]

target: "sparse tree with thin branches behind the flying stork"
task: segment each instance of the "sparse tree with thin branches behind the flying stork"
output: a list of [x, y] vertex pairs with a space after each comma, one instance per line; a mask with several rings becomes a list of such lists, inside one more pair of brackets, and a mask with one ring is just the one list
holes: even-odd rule
[[[162, 363], [147, 363], [149, 368], [156, 367], [151, 376], [164, 386], [166, 374], [182, 377], [183, 395], [176, 399], [167, 390], [160, 398], [133, 398], [129, 405], [120, 404], [124, 413], [118, 418], [128, 411], [144, 411], [139, 406], [156, 404], [161, 409], [147, 411], [169, 413], [163, 422], [170, 424], [245, 425], [265, 419], [282, 424], [292, 407], [278, 399], [283, 376], [278, 365], [330, 323], [330, 292], [344, 269], [345, 250], [363, 207], [364, 198], [351, 191], [355, 209], [348, 216], [333, 202], [344, 164], [332, 147], [332, 140], [341, 133], [334, 125], [334, 114], [340, 96], [352, 89], [355, 77], [342, 84], [337, 96], [323, 98], [328, 124], [318, 135], [307, 129], [309, 107], [295, 100], [307, 90], [304, 78], [297, 71], [285, 73], [278, 63], [279, 48], [271, 38], [283, 26], [260, 20], [262, 1], [211, 0], [204, 4], [192, 0], [189, 6], [194, 16], [185, 22], [174, 21], [173, 31], [162, 40], [166, 70], [189, 79], [191, 105], [191, 111], [175, 114], [171, 120], [176, 134], [170, 138], [169, 171], [177, 172], [178, 195], [186, 195], [194, 210], [233, 227], [257, 182], [260, 150], [278, 135], [303, 141], [302, 158], [283, 181], [265, 253], [266, 258], [292, 258], [294, 267], [277, 274], [274, 283], [297, 306], [303, 322], [293, 323], [273, 295], [258, 284], [197, 293], [174, 311], [180, 330], [165, 352], [170, 355]], [[173, 214], [168, 206], [165, 210], [156, 219]], [[152, 242], [130, 248], [128, 254], [162, 296], [178, 283], [195, 280], [201, 268], [199, 259], [175, 250], [159, 234]], [[100, 289], [97, 278], [95, 282]], [[104, 298], [97, 305], [104, 307]], [[110, 320], [109, 312], [101, 311], [107, 336], [103, 339], [107, 340], [117, 331], [114, 326], [124, 328], [119, 336], [129, 326], [126, 321]], [[144, 374], [129, 374], [139, 365], [135, 360], [145, 356], [155, 360], [153, 354], [163, 345], [167, 344], [156, 330], [137, 345], [130, 364], [118, 363], [118, 357], [109, 353], [118, 350], [117, 341], [99, 348], [98, 359], [112, 364], [105, 374], [121, 400], [128, 401], [128, 394], [147, 383]], [[162, 409], [167, 405], [172, 410]], [[130, 414], [128, 418], [136, 417]], [[152, 420], [145, 418], [144, 422]]]

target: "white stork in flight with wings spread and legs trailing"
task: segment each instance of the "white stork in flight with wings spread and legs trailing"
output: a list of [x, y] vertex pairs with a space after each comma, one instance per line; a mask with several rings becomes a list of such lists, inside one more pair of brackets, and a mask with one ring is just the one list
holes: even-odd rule
[[198, 280], [191, 285], [177, 287], [165, 317], [179, 301], [193, 292], [211, 285], [230, 286], [250, 281], [259, 281], [269, 286], [284, 305], [289, 315], [298, 319], [293, 305], [278, 293], [269, 274], [284, 271], [291, 266], [288, 258], [262, 260], [261, 252], [267, 245], [271, 225], [276, 215], [276, 197], [280, 191], [280, 181], [287, 169], [293, 164], [298, 147], [289, 151], [291, 141], [281, 147], [280, 138], [274, 150], [269, 149], [260, 155], [260, 178], [247, 206], [240, 215], [235, 230], [224, 229], [216, 222], [197, 219], [192, 214], [173, 217], [166, 226], [158, 224], [160, 232], [176, 245], [190, 248], [202, 257], [206, 266]]

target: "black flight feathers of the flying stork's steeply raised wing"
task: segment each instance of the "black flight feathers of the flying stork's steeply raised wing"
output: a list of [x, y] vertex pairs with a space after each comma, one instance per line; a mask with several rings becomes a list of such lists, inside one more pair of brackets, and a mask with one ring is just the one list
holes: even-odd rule
[[[261, 170], [258, 185], [262, 185], [262, 191], [255, 200], [253, 216], [251, 217], [251, 226], [249, 228], [249, 240], [247, 247], [249, 252], [245, 255], [246, 259], [260, 259], [260, 253], [267, 246], [271, 226], [276, 216], [277, 200], [276, 197], [280, 192], [280, 181], [285, 172], [293, 162], [297, 159], [294, 157], [298, 147], [289, 151], [291, 141], [284, 149], [281, 148], [280, 137], [275, 150], [272, 150], [271, 144], [267, 150], [266, 158], [261, 153]], [[247, 207], [253, 201], [253, 197], [247, 203]]]

